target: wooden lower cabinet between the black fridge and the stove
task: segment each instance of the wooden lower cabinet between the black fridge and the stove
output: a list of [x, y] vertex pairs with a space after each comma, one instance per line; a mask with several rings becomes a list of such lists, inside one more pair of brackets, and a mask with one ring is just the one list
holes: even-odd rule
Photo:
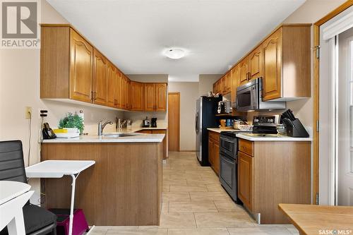
[[220, 133], [208, 131], [208, 162], [217, 175], [220, 175]]

